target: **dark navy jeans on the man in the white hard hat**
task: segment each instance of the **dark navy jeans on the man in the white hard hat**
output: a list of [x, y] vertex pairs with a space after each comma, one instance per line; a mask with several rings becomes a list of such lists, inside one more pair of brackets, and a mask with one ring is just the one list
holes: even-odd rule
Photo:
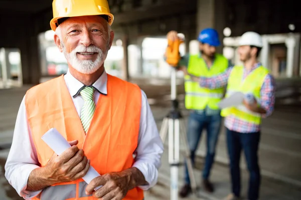
[[260, 132], [240, 133], [227, 128], [227, 145], [230, 158], [230, 174], [232, 192], [240, 196], [240, 154], [243, 149], [250, 178], [248, 199], [257, 200], [260, 186], [260, 170], [258, 165], [258, 144]]

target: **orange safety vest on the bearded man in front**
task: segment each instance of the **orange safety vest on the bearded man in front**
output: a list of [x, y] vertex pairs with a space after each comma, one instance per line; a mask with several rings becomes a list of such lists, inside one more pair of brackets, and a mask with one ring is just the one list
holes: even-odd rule
[[[69, 141], [77, 139], [77, 146], [84, 150], [99, 174], [122, 171], [133, 165], [140, 121], [140, 88], [108, 74], [107, 89], [108, 94], [99, 97], [87, 134], [63, 75], [27, 91], [27, 117], [41, 166], [53, 154], [41, 139], [51, 127]], [[85, 194], [86, 186], [82, 178], [57, 183], [43, 189], [34, 199], [95, 199]], [[133, 188], [123, 199], [143, 199], [143, 191]]]

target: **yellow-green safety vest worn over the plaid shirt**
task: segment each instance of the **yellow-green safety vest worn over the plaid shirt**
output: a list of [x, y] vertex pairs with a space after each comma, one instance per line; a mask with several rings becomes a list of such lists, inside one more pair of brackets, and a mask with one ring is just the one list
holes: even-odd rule
[[[243, 66], [234, 66], [227, 86], [226, 97], [230, 96], [234, 92], [241, 91], [243, 93], [252, 93], [257, 102], [260, 100], [260, 89], [265, 79], [265, 76], [269, 73], [268, 69], [264, 66], [259, 66], [254, 69], [247, 77], [243, 79]], [[250, 111], [243, 104], [235, 107], [227, 107], [222, 109], [222, 116], [234, 115], [236, 118], [251, 122], [254, 124], [260, 124], [261, 115], [259, 113]]]

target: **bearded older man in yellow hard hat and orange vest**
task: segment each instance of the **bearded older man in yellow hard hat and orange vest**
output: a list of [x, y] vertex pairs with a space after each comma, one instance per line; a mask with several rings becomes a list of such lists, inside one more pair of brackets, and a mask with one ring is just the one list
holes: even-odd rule
[[[53, 15], [68, 72], [27, 91], [5, 175], [26, 199], [141, 200], [156, 184], [163, 143], [145, 93], [105, 72], [114, 38], [108, 2], [54, 0]], [[71, 144], [60, 155], [41, 139], [51, 127]], [[101, 176], [87, 184], [90, 165]]]

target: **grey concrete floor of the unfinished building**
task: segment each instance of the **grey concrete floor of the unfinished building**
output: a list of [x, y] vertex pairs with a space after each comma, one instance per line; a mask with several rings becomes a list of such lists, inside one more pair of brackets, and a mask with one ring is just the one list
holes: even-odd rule
[[[139, 83], [139, 82], [138, 82]], [[149, 98], [149, 103], [157, 122], [161, 127], [162, 120], [169, 110], [169, 86], [168, 85], [145, 85], [139, 84]], [[0, 199], [20, 199], [16, 191], [4, 178], [4, 164], [12, 141], [12, 132], [22, 97], [29, 86], [13, 89], [0, 90]], [[183, 85], [179, 86], [180, 106], [183, 107]], [[279, 100], [280, 101], [280, 100]], [[278, 101], [278, 102], [279, 102]], [[281, 98], [285, 102], [285, 98]], [[291, 102], [291, 101], [290, 101]], [[183, 110], [185, 118], [187, 110]], [[263, 120], [262, 135], [260, 142], [260, 165], [262, 169], [262, 186], [260, 199], [301, 199], [301, 111], [300, 107], [277, 104], [272, 116]], [[203, 137], [205, 138], [205, 137]], [[167, 140], [166, 140], [167, 141]], [[183, 149], [182, 149], [183, 150]], [[198, 150], [198, 161], [195, 175], [200, 182], [203, 165], [202, 155], [206, 150], [205, 139], [202, 139]], [[169, 164], [167, 162], [168, 146], [163, 156], [163, 165], [160, 169], [159, 183], [151, 190], [145, 192], [145, 199], [169, 199]], [[221, 131], [217, 155], [211, 179], [214, 181], [216, 191], [208, 194], [200, 188], [202, 198], [198, 199], [221, 199], [228, 194], [230, 189], [228, 158], [225, 145], [224, 129]], [[244, 169], [242, 159], [243, 194], [246, 194], [248, 173]], [[182, 184], [183, 170], [180, 168], [179, 180]], [[196, 199], [191, 196], [187, 199]]]

